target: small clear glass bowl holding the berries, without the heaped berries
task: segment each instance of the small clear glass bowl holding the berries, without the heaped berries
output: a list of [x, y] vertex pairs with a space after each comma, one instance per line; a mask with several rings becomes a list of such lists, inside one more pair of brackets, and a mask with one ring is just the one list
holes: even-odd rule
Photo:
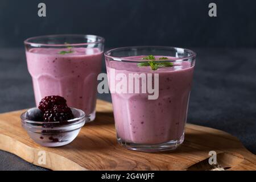
[[85, 124], [85, 113], [71, 108], [74, 119], [62, 122], [40, 122], [28, 119], [29, 113], [36, 107], [28, 109], [20, 115], [22, 127], [36, 143], [45, 147], [59, 147], [71, 143]]

